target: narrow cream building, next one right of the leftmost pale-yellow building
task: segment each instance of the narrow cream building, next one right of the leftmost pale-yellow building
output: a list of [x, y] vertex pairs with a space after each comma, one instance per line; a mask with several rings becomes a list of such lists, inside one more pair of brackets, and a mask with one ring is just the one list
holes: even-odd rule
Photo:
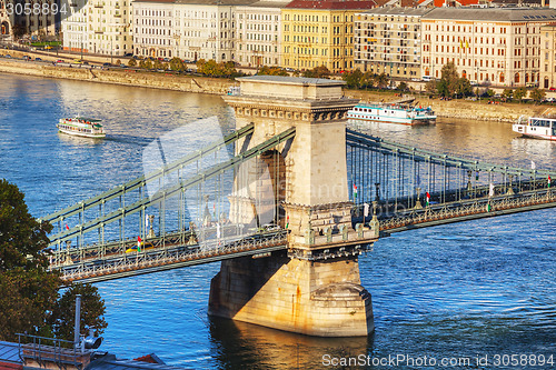
[[132, 3], [133, 53], [141, 57], [172, 58], [173, 0], [135, 0]]

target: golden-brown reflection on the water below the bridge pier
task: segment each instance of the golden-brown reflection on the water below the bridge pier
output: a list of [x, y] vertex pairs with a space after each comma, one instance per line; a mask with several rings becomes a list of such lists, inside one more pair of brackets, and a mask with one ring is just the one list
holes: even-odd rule
[[322, 369], [332, 361], [366, 358], [374, 334], [320, 338], [290, 333], [246, 322], [210, 318], [211, 351], [219, 369]]

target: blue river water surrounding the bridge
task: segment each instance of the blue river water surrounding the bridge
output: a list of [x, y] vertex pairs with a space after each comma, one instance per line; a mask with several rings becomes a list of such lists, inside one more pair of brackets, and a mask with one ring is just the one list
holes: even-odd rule
[[[58, 119], [75, 114], [102, 119], [107, 138], [58, 133]], [[33, 216], [44, 216], [140, 176], [149, 142], [211, 116], [231, 130], [234, 114], [218, 97], [0, 74], [0, 178], [24, 191]], [[505, 123], [369, 130], [416, 147], [556, 170], [556, 142], [518, 138]], [[319, 339], [210, 319], [209, 283], [219, 263], [98, 283], [109, 323], [101, 349], [121, 358], [156, 353], [196, 369], [320, 369], [348, 357], [374, 369], [502, 369], [516, 358], [519, 368], [554, 368], [546, 361], [556, 361], [555, 230], [553, 209], [379, 240], [359, 261], [375, 310], [369, 338]]]

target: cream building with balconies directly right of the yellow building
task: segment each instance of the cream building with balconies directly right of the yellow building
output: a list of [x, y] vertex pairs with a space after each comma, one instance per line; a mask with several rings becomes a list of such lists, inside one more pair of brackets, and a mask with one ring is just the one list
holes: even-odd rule
[[377, 8], [355, 16], [355, 68], [420, 78], [420, 18], [426, 8]]

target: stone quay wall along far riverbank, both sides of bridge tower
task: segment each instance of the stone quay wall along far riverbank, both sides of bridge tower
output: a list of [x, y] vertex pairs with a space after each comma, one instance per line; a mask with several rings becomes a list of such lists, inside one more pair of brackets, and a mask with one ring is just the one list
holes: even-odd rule
[[[12, 57], [22, 58], [23, 52], [10, 50]], [[6, 54], [6, 52], [4, 52]], [[53, 58], [53, 56], [51, 57]], [[21, 59], [0, 58], [0, 73], [14, 73], [54, 79], [70, 79], [99, 83], [112, 83], [141, 88], [165, 89], [183, 92], [225, 94], [237, 83], [230, 79], [183, 76], [166, 72], [150, 72], [135, 69], [90, 68], [90, 66], [31, 62]], [[345, 90], [346, 97], [371, 102], [393, 102], [400, 97], [395, 91]], [[407, 96], [404, 96], [404, 98]], [[520, 116], [534, 117], [555, 114], [556, 106], [533, 103], [489, 104], [488, 99], [470, 101], [466, 99], [440, 100], [424, 94], [415, 94], [415, 102], [423, 107], [431, 107], [437, 117], [453, 119], [470, 119], [514, 123]]]

